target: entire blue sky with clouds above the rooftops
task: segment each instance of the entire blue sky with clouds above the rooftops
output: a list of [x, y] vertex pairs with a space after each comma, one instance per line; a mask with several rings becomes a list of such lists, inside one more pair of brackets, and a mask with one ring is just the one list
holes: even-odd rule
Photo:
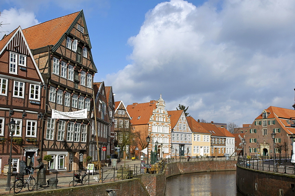
[[[293, 109], [295, 2], [0, 1], [0, 31], [83, 9], [94, 81], [116, 101], [189, 106], [195, 119], [252, 123], [269, 106]], [[7, 15], [6, 15], [7, 14]], [[3, 36], [4, 33], [0, 33]]]

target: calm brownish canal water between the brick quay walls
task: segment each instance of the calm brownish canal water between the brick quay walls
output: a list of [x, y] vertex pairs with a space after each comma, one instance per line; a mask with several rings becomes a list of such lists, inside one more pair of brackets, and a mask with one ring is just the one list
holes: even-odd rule
[[166, 196], [178, 195], [238, 195], [236, 171], [199, 172], [167, 178]]

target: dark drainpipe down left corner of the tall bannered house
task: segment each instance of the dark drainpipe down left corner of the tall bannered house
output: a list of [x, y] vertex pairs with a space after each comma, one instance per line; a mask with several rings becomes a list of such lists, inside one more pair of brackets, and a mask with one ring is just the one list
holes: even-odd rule
[[[50, 49], [51, 47], [48, 45], [48, 75], [46, 75], [46, 87], [45, 87], [45, 112], [42, 117], [42, 134], [41, 134], [41, 145], [40, 145], [40, 157], [42, 158], [42, 152], [43, 152], [43, 141], [44, 141], [44, 132], [45, 132], [45, 121], [47, 116], [47, 111], [48, 111], [48, 85], [49, 85], [49, 80], [51, 77], [51, 58], [50, 58]], [[47, 166], [48, 167], [48, 166]]]

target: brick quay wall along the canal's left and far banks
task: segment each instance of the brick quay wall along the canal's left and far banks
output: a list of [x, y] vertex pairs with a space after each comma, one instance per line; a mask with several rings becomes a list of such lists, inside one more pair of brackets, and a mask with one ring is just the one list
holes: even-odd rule
[[[140, 196], [161, 196], [164, 195], [166, 178], [179, 174], [195, 172], [227, 171], [236, 170], [237, 161], [196, 161], [196, 162], [174, 162], [165, 166], [163, 173], [160, 174], [141, 174], [137, 178], [129, 180], [117, 180], [115, 182], [97, 183], [89, 186], [65, 187], [60, 189], [49, 189], [38, 192], [20, 192], [17, 195], [45, 195], [45, 196], [86, 196], [103, 195], [107, 196], [106, 190], [116, 190], [117, 195], [140, 195]], [[90, 178], [91, 179], [91, 178]], [[0, 194], [1, 195], [1, 194]], [[9, 194], [4, 194], [9, 195]], [[10, 194], [13, 195], [13, 194]]]

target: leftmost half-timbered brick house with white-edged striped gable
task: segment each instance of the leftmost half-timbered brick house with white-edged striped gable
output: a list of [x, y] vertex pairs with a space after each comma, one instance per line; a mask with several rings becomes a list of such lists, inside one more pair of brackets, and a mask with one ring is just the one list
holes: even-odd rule
[[[37, 165], [45, 109], [44, 81], [21, 27], [0, 41], [0, 67], [0, 171], [8, 164], [13, 141], [12, 172], [18, 173], [19, 161], [27, 162], [28, 156]], [[8, 123], [12, 119], [17, 127], [11, 141]]]

